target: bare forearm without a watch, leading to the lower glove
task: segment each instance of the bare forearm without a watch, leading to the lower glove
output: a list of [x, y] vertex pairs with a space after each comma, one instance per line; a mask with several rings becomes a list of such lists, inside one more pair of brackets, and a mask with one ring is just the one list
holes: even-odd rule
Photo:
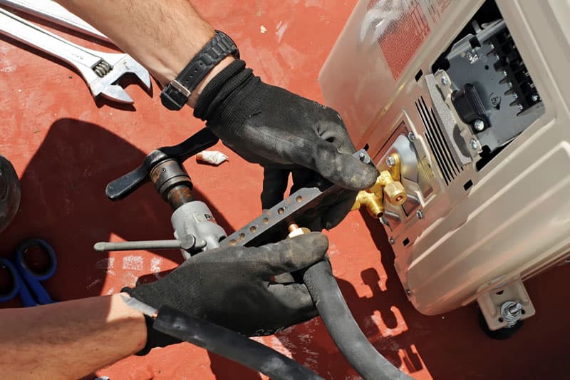
[[0, 310], [5, 379], [78, 379], [145, 345], [145, 319], [120, 294]]

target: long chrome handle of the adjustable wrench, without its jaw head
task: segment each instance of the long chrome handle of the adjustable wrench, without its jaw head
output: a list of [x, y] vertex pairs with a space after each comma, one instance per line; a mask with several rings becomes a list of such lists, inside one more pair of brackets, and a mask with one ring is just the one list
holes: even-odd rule
[[101, 61], [100, 57], [88, 53], [74, 43], [1, 8], [0, 33], [61, 58], [80, 70], [80, 66], [93, 68]]

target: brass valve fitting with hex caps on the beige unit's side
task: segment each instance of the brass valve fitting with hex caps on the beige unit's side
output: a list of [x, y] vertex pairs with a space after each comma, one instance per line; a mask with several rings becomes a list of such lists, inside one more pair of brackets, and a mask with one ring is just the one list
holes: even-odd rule
[[400, 156], [398, 153], [390, 155], [390, 163], [392, 164], [390, 168], [380, 172], [376, 183], [371, 188], [358, 192], [352, 210], [358, 210], [361, 206], [366, 205], [371, 216], [380, 217], [384, 213], [384, 196], [390, 204], [395, 206], [403, 205], [408, 199], [408, 195], [400, 183]]

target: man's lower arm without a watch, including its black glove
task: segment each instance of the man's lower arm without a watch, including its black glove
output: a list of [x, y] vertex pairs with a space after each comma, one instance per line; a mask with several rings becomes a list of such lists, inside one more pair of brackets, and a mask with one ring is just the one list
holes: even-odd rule
[[1, 379], [80, 379], [135, 352], [180, 343], [147, 326], [122, 297], [155, 309], [168, 305], [247, 336], [308, 321], [318, 312], [305, 285], [270, 279], [313, 265], [327, 249], [319, 233], [261, 247], [220, 248], [124, 293], [0, 309]]

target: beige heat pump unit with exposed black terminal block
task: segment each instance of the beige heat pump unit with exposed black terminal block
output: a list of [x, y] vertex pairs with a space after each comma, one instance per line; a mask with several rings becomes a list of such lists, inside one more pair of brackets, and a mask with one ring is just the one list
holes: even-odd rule
[[319, 81], [398, 167], [407, 199], [369, 211], [423, 314], [478, 302], [514, 331], [524, 280], [570, 261], [569, 72], [568, 1], [358, 1]]

